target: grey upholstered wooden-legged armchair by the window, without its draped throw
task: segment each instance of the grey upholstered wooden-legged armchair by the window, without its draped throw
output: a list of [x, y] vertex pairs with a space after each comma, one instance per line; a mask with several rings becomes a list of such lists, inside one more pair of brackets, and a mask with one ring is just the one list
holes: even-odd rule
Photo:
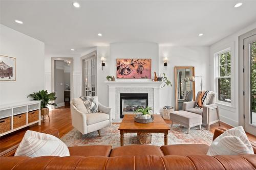
[[[197, 93], [197, 99], [199, 98], [201, 91]], [[208, 105], [203, 106], [203, 108], [199, 109], [196, 107], [196, 101], [184, 102], [182, 110], [197, 113], [202, 115], [202, 124], [206, 126], [208, 130], [210, 130], [210, 125], [216, 122], [219, 122], [220, 126], [220, 114], [218, 105], [215, 104], [216, 93], [213, 93], [211, 98], [209, 99]]]

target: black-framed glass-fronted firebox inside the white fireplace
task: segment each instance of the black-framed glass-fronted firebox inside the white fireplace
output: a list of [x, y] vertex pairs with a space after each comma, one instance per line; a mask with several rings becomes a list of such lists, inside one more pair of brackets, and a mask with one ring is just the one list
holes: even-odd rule
[[138, 108], [146, 108], [147, 105], [147, 93], [120, 93], [120, 118], [125, 114], [134, 114]]

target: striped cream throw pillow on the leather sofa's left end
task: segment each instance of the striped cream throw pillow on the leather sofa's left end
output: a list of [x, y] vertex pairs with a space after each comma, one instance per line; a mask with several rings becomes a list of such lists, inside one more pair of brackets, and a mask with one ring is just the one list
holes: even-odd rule
[[70, 156], [70, 154], [67, 145], [59, 138], [28, 130], [14, 156]]

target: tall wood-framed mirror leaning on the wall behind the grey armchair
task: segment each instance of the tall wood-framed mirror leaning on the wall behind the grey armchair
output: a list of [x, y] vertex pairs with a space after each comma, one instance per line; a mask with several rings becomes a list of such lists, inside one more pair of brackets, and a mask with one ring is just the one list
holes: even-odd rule
[[176, 110], [182, 110], [184, 102], [195, 101], [195, 67], [175, 67]]

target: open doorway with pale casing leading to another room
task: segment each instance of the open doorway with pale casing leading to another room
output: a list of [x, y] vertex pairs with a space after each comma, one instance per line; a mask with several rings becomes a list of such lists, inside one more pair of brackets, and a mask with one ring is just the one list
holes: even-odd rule
[[73, 58], [52, 58], [52, 89], [57, 107], [70, 107], [73, 99]]

